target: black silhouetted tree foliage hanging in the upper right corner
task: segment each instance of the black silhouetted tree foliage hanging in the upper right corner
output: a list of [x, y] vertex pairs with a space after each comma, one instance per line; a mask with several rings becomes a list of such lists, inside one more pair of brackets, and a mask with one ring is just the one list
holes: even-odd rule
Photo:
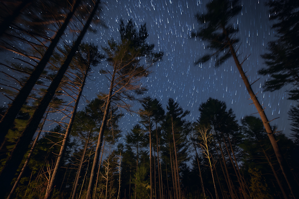
[[286, 85], [290, 100], [299, 100], [299, 2], [297, 0], [268, 1], [269, 19], [277, 39], [268, 43], [268, 53], [262, 55], [267, 65], [259, 73], [270, 76], [264, 84], [266, 91], [277, 91]]

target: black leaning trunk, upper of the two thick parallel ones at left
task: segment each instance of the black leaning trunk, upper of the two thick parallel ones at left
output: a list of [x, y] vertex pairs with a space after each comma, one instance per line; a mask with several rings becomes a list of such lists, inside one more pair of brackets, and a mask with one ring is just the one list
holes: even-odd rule
[[[58, 30], [56, 36], [52, 40], [51, 44], [49, 45], [47, 51], [45, 52], [44, 56], [40, 60], [40, 62], [35, 67], [34, 71], [31, 73], [30, 77], [24, 84], [24, 86], [21, 88], [17, 96], [14, 98], [14, 100], [9, 104], [9, 107], [7, 108], [5, 114], [1, 118], [0, 121], [0, 143], [3, 142], [3, 139], [5, 135], [7, 134], [9, 128], [12, 126], [13, 121], [18, 114], [19, 110], [23, 106], [24, 102], [26, 101], [27, 97], [29, 96], [31, 90], [33, 89], [36, 81], [38, 80], [39, 76], [43, 72], [46, 64], [48, 63], [50, 57], [53, 54], [53, 51], [55, 47], [58, 44], [58, 41], [60, 37], [63, 35], [65, 29], [67, 28], [68, 23], [70, 22], [72, 16], [74, 15], [77, 7], [79, 6], [81, 0], [76, 0], [76, 3], [73, 6], [73, 9], [70, 13], [68, 13], [67, 17], [64, 20], [64, 23], [62, 24], [61, 28]], [[1, 28], [0, 28], [1, 29]], [[81, 41], [80, 41], [81, 42]], [[1, 193], [0, 193], [1, 195]]]

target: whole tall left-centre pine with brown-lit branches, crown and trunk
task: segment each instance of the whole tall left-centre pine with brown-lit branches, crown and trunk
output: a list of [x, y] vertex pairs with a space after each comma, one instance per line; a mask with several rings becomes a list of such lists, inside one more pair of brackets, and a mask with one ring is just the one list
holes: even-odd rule
[[[104, 96], [106, 101], [104, 117], [99, 132], [86, 199], [92, 198], [95, 173], [100, 155], [99, 150], [102, 146], [111, 103], [130, 109], [130, 104], [126, 103], [125, 99], [136, 100], [136, 94], [143, 94], [146, 91], [146, 89], [140, 85], [139, 80], [143, 77], [147, 77], [149, 75], [149, 67], [162, 57], [161, 52], [153, 52], [154, 45], [149, 45], [146, 42], [149, 36], [146, 25], [142, 25], [140, 30], [137, 31], [132, 20], [129, 20], [127, 25], [125, 25], [122, 20], [120, 33], [120, 43], [111, 40], [108, 42], [109, 47], [103, 48], [112, 70], [102, 72], [111, 75], [111, 77], [109, 77], [111, 84], [108, 95]], [[142, 64], [142, 60], [145, 64]]]

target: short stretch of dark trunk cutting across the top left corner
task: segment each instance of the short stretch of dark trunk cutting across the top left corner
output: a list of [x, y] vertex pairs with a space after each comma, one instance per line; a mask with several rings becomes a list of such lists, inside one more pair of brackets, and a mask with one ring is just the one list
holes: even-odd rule
[[33, 0], [21, 0], [21, 3], [13, 10], [12, 14], [6, 16], [0, 24], [0, 37], [9, 27], [9, 25], [15, 20], [16, 17], [21, 13], [22, 9], [27, 7]]

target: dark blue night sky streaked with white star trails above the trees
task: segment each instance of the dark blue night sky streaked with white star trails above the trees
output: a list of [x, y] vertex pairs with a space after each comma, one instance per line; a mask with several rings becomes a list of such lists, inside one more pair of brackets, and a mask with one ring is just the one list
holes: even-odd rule
[[[203, 65], [194, 65], [196, 59], [205, 54], [208, 49], [206, 43], [190, 38], [190, 32], [198, 29], [199, 25], [194, 17], [196, 13], [205, 12], [205, 3], [208, 0], [104, 0], [102, 19], [108, 29], [96, 27], [96, 34], [89, 33], [86, 40], [99, 46], [107, 46], [110, 38], [119, 38], [120, 19], [133, 19], [137, 27], [147, 23], [149, 43], [155, 45], [156, 51], [163, 51], [161, 62], [152, 67], [152, 74], [143, 80], [149, 92], [145, 96], [157, 98], [164, 108], [168, 98], [176, 100], [185, 110], [190, 110], [188, 120], [195, 121], [199, 116], [198, 106], [209, 97], [225, 101], [228, 108], [232, 108], [238, 120], [243, 116], [257, 112], [249, 99], [249, 94], [230, 58], [219, 68], [213, 62]], [[287, 100], [286, 88], [277, 92], [264, 92], [263, 84], [267, 77], [260, 76], [258, 71], [265, 67], [261, 54], [266, 52], [267, 43], [274, 40], [275, 32], [271, 29], [268, 7], [265, 0], [240, 0], [242, 12], [233, 19], [234, 26], [240, 29], [237, 37], [240, 38], [238, 51], [239, 61], [250, 55], [244, 62], [243, 70], [249, 75], [254, 92], [258, 92], [258, 99], [266, 106], [266, 115], [269, 120], [280, 117], [271, 122], [277, 125], [278, 130], [290, 134], [288, 110], [294, 101]], [[103, 63], [99, 67], [105, 67]], [[85, 88], [85, 96], [91, 100], [98, 92], [106, 92], [108, 86], [104, 75], [94, 68]], [[82, 101], [82, 104], [84, 102]], [[139, 105], [135, 106], [135, 110]], [[255, 116], [259, 116], [255, 114]], [[136, 114], [126, 114], [120, 126], [126, 132], [137, 123]]]

